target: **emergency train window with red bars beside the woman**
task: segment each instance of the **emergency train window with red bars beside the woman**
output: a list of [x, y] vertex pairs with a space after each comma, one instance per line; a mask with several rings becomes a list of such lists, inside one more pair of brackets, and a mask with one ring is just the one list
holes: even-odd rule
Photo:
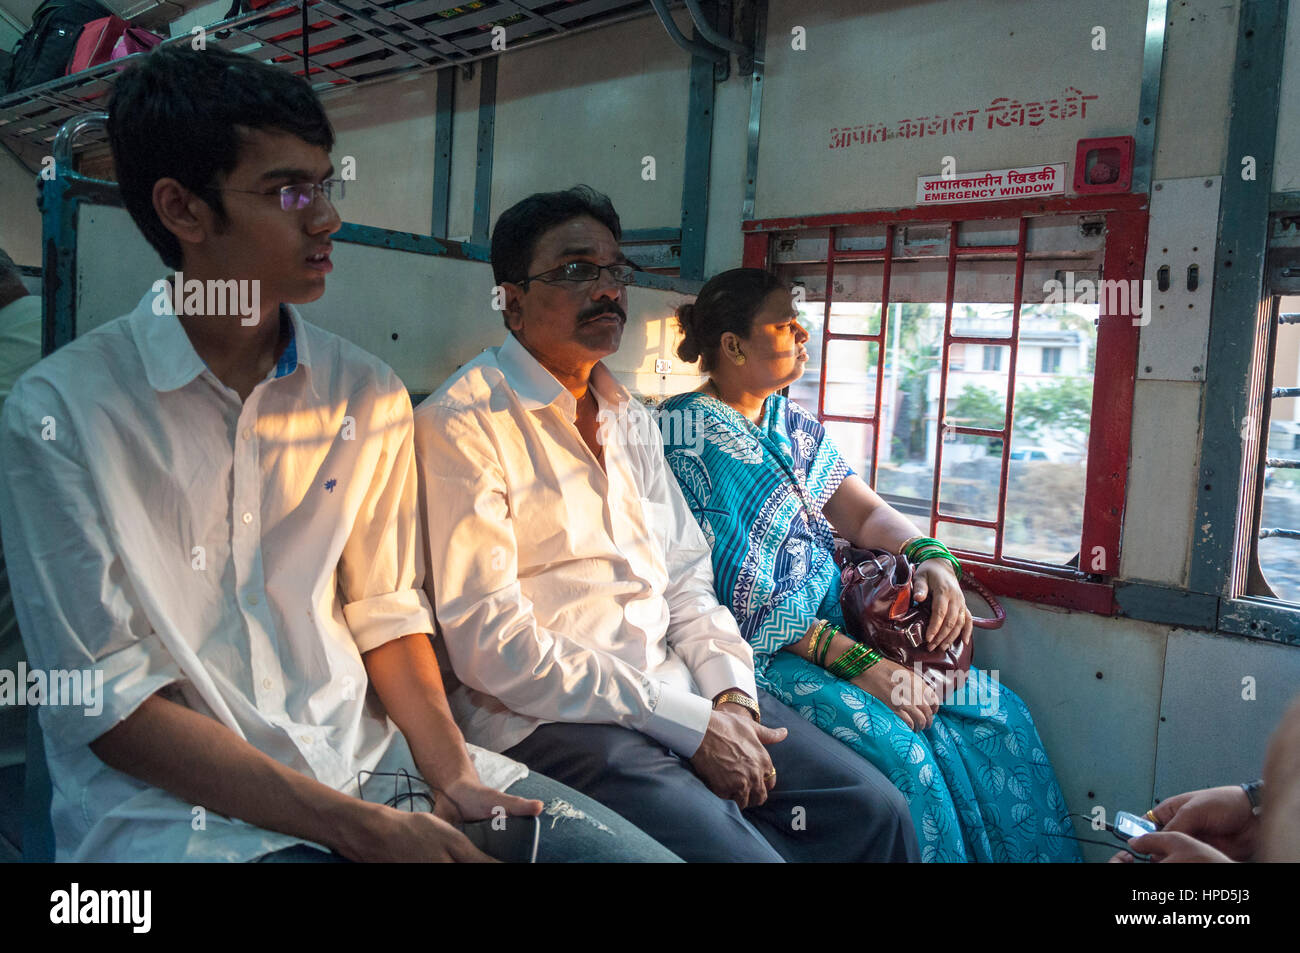
[[1118, 540], [1114, 562], [1080, 559], [1098, 329], [1139, 302], [1106, 300], [1128, 289], [1078, 221], [779, 234], [771, 264], [811, 335], [790, 398], [878, 493], [963, 556], [1105, 576]]

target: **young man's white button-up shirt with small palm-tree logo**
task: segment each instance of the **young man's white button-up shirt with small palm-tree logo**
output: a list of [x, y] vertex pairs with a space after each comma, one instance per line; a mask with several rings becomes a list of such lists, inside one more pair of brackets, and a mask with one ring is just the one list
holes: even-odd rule
[[[29, 664], [103, 679], [94, 706], [40, 707], [58, 859], [242, 861], [299, 841], [198, 811], [88, 744], [161, 692], [338, 790], [415, 772], [361, 662], [433, 631], [411, 402], [294, 308], [240, 402], [153, 298], [14, 386], [0, 527]], [[477, 754], [497, 787], [526, 774]]]

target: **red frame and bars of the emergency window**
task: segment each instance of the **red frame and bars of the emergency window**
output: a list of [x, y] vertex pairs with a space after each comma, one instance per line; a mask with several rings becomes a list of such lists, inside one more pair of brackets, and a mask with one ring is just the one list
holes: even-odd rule
[[[770, 268], [772, 264], [772, 238], [776, 233], [803, 231], [810, 229], [829, 229], [827, 260], [827, 287], [833, 287], [832, 278], [836, 263], [880, 261], [883, 263], [880, 328], [875, 334], [838, 334], [831, 332], [827, 300], [826, 319], [822, 325], [822, 381], [819, 384], [818, 415], [823, 420], [845, 420], [855, 424], [874, 424], [870, 417], [852, 417], [824, 412], [827, 343], [831, 341], [875, 341], [878, 360], [885, 360], [885, 347], [889, 321], [889, 272], [893, 254], [894, 229], [900, 225], [935, 224], [948, 225], [948, 290], [944, 313], [944, 343], [941, 347], [940, 421], [944, 420], [948, 398], [949, 351], [954, 343], [992, 343], [1010, 347], [1009, 381], [1015, 380], [1015, 364], [1019, 346], [1019, 322], [1022, 304], [1022, 285], [1024, 280], [1024, 248], [1028, 220], [1041, 216], [1071, 213], [1105, 215], [1105, 248], [1102, 252], [1102, 280], [1141, 281], [1147, 257], [1148, 198], [1145, 195], [1089, 195], [1062, 199], [1018, 199], [1010, 202], [970, 203], [961, 205], [940, 205], [926, 208], [901, 208], [879, 212], [850, 212], [841, 215], [800, 216], [793, 218], [760, 218], [742, 224], [744, 264], [746, 268]], [[1019, 234], [1015, 244], [1008, 246], [958, 246], [958, 230], [962, 222], [1019, 218]], [[884, 225], [884, 250], [859, 251], [836, 250], [836, 229]], [[953, 296], [959, 257], [976, 254], [1015, 254], [1015, 302], [1011, 313], [1010, 338], [983, 338], [953, 334]], [[1002, 439], [1002, 471], [998, 481], [997, 519], [982, 520], [941, 512], [939, 508], [939, 489], [942, 471], [945, 430], [953, 433], [976, 434], [984, 437], [1005, 437], [1011, 426], [1013, 406], [1008, 402], [1006, 417], [1001, 429], [974, 426], [940, 426], [936, 442], [933, 491], [931, 494], [930, 533], [933, 536], [939, 519], [945, 523], [966, 523], [994, 529], [996, 545], [992, 559], [988, 554], [954, 550], [970, 567], [970, 572], [998, 594], [1041, 602], [1046, 605], [1078, 608], [1100, 615], [1114, 615], [1118, 606], [1114, 598], [1113, 579], [1119, 573], [1119, 543], [1123, 530], [1124, 498], [1128, 488], [1130, 441], [1132, 433], [1134, 382], [1138, 376], [1138, 335], [1139, 325], [1134, 322], [1140, 316], [1139, 303], [1128, 302], [1128, 311], [1109, 313], [1105, 295], [1100, 300], [1097, 322], [1096, 371], [1092, 389], [1092, 417], [1088, 432], [1088, 465], [1084, 489], [1083, 532], [1079, 543], [1078, 571], [1070, 567], [1048, 567], [1040, 563], [1005, 556], [1001, 551], [1002, 538], [997, 532], [1006, 515], [1006, 480], [1009, 475], [1009, 454], [1011, 442]], [[876, 373], [875, 413], [880, 412], [884, 374]], [[1010, 384], [1009, 384], [1010, 386]], [[880, 447], [878, 429], [872, 426], [871, 478], [879, 464]], [[1104, 555], [1104, 571], [1089, 571], [1095, 555]], [[1101, 581], [1097, 579], [1101, 577]]]

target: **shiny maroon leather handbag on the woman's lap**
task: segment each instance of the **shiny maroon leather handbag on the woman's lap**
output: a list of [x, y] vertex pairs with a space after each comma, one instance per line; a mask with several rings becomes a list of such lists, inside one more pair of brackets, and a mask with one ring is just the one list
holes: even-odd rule
[[[924, 646], [930, 627], [930, 599], [913, 598], [915, 567], [906, 556], [887, 550], [840, 546], [835, 551], [840, 567], [840, 608], [848, 634], [875, 649], [883, 658], [907, 668], [920, 666], [920, 675], [945, 698], [966, 681], [971, 667], [971, 641], [958, 640], [946, 650]], [[976, 628], [996, 629], [1006, 612], [984, 585], [970, 576], [962, 585], [974, 589], [993, 610], [992, 619], [972, 619]]]

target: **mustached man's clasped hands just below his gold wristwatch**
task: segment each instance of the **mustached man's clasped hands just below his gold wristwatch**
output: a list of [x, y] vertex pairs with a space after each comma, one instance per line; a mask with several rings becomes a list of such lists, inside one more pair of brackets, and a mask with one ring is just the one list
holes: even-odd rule
[[776, 770], [763, 745], [784, 741], [785, 735], [785, 728], [766, 728], [740, 705], [725, 702], [710, 715], [690, 764], [718, 797], [734, 801], [741, 810], [757, 807], [776, 785]]

